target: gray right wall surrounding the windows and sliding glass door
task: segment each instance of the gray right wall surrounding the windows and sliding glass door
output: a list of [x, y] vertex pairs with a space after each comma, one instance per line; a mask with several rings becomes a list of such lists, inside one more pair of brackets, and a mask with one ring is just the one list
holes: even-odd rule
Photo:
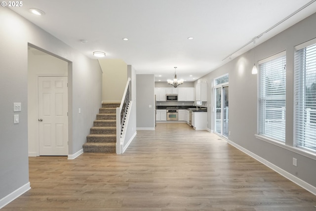
[[[286, 145], [293, 146], [294, 46], [314, 38], [316, 38], [316, 13], [200, 78], [195, 83], [205, 81], [208, 83], [207, 103], [208, 108], [212, 108], [213, 79], [229, 73], [229, 130], [231, 131], [229, 140], [316, 187], [315, 155], [309, 158], [290, 147], [276, 146], [255, 138], [257, 133], [258, 75], [251, 74], [254, 55], [257, 63], [259, 60], [286, 50]], [[207, 127], [213, 129], [211, 112], [208, 112], [207, 119]], [[297, 158], [297, 167], [292, 165], [292, 158]]]

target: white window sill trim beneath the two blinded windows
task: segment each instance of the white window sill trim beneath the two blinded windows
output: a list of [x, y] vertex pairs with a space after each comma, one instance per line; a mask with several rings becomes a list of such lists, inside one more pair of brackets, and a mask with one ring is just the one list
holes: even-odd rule
[[262, 136], [262, 135], [255, 134], [255, 137], [257, 139], [259, 139], [259, 140], [271, 143], [273, 145], [276, 145], [276, 146], [281, 147], [283, 149], [286, 149], [286, 150], [289, 150], [291, 152], [297, 153], [297, 154], [302, 155], [304, 157], [316, 160], [316, 154], [312, 153], [312, 152], [310, 152], [308, 150], [304, 150], [304, 149], [301, 149], [301, 148], [298, 148], [298, 147], [292, 147], [292, 146], [286, 145], [283, 142], [275, 141], [274, 139], [271, 139], [271, 138], [268, 138], [268, 137], [265, 137], [265, 136]]

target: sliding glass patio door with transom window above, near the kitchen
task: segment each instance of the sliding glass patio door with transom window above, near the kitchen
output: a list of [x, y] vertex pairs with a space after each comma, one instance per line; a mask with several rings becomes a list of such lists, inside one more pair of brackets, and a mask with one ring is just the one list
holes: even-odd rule
[[229, 77], [228, 74], [214, 79], [214, 132], [229, 135]]

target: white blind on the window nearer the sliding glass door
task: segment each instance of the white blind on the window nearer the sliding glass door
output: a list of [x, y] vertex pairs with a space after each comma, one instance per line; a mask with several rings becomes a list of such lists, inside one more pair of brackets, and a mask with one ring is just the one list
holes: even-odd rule
[[259, 61], [259, 134], [285, 141], [286, 52]]

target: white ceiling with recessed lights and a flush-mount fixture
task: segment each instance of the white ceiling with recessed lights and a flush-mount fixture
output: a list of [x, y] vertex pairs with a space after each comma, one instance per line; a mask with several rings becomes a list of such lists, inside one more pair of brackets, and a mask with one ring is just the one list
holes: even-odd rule
[[[10, 9], [88, 57], [96, 59], [92, 52], [104, 51], [106, 59], [122, 59], [137, 74], [155, 74], [155, 81], [173, 79], [177, 66], [178, 79], [195, 81], [309, 2], [313, 3], [261, 36], [256, 45], [313, 14], [315, 1], [24, 0], [22, 7]], [[29, 8], [45, 15], [35, 16]], [[253, 46], [251, 42], [231, 59]]]

